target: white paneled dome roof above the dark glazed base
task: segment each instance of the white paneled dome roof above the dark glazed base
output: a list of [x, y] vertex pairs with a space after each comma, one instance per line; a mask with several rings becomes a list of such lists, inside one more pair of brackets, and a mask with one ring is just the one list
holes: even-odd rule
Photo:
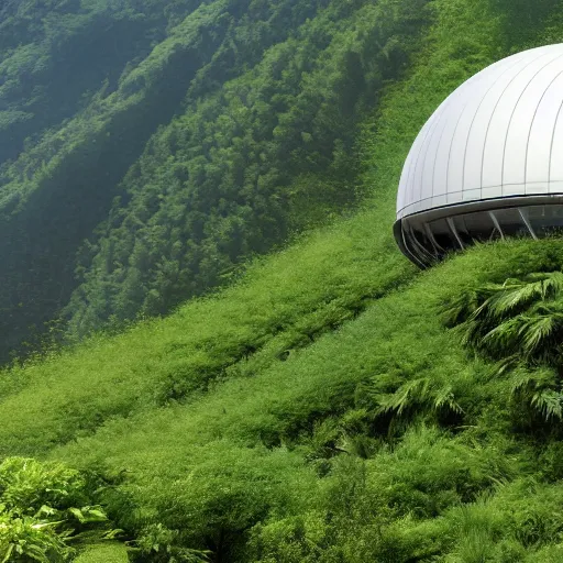
[[397, 219], [475, 200], [563, 194], [563, 44], [505, 58], [460, 86], [405, 163]]

